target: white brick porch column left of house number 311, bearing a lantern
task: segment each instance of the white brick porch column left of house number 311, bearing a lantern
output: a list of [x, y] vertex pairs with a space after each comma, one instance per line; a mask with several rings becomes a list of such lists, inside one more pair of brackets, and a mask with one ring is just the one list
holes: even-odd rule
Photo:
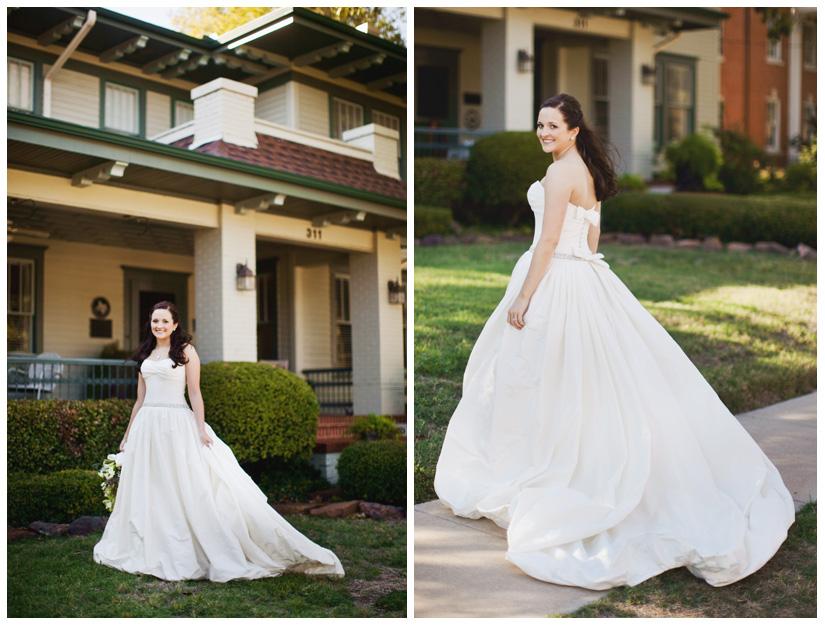
[[255, 271], [255, 214], [217, 208], [218, 228], [195, 232], [195, 324], [201, 361], [257, 361], [254, 291], [238, 291], [237, 264]]

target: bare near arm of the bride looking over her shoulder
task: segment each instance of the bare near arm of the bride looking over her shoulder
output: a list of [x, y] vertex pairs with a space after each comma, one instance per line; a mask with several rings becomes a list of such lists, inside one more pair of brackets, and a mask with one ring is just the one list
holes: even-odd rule
[[571, 176], [565, 174], [562, 163], [554, 163], [547, 168], [544, 177], [544, 217], [541, 222], [541, 235], [533, 251], [533, 259], [521, 290], [507, 313], [507, 321], [515, 328], [524, 327], [524, 314], [530, 306], [530, 298], [539, 286], [542, 276], [550, 265], [550, 259], [559, 243], [567, 203], [573, 193]]

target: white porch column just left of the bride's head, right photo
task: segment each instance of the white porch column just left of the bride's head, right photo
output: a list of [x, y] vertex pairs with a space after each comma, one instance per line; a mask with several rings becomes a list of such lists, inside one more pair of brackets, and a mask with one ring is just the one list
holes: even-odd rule
[[[484, 128], [530, 130], [535, 123], [533, 72], [518, 71], [518, 51], [534, 55], [533, 23], [513, 7], [481, 27]], [[548, 96], [549, 97], [549, 96]]]

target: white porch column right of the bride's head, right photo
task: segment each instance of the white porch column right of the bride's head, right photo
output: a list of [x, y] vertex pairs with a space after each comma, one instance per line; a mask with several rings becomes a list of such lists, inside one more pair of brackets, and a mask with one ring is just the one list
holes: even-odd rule
[[653, 171], [654, 86], [642, 84], [642, 66], [656, 65], [653, 40], [652, 29], [637, 22], [629, 39], [610, 40], [610, 139], [625, 171], [642, 178]]

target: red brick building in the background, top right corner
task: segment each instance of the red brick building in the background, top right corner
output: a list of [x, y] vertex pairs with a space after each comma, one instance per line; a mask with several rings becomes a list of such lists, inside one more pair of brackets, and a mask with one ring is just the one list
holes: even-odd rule
[[816, 7], [783, 9], [790, 35], [768, 39], [754, 8], [722, 9], [720, 122], [739, 129], [778, 163], [792, 162], [791, 139], [816, 134]]

